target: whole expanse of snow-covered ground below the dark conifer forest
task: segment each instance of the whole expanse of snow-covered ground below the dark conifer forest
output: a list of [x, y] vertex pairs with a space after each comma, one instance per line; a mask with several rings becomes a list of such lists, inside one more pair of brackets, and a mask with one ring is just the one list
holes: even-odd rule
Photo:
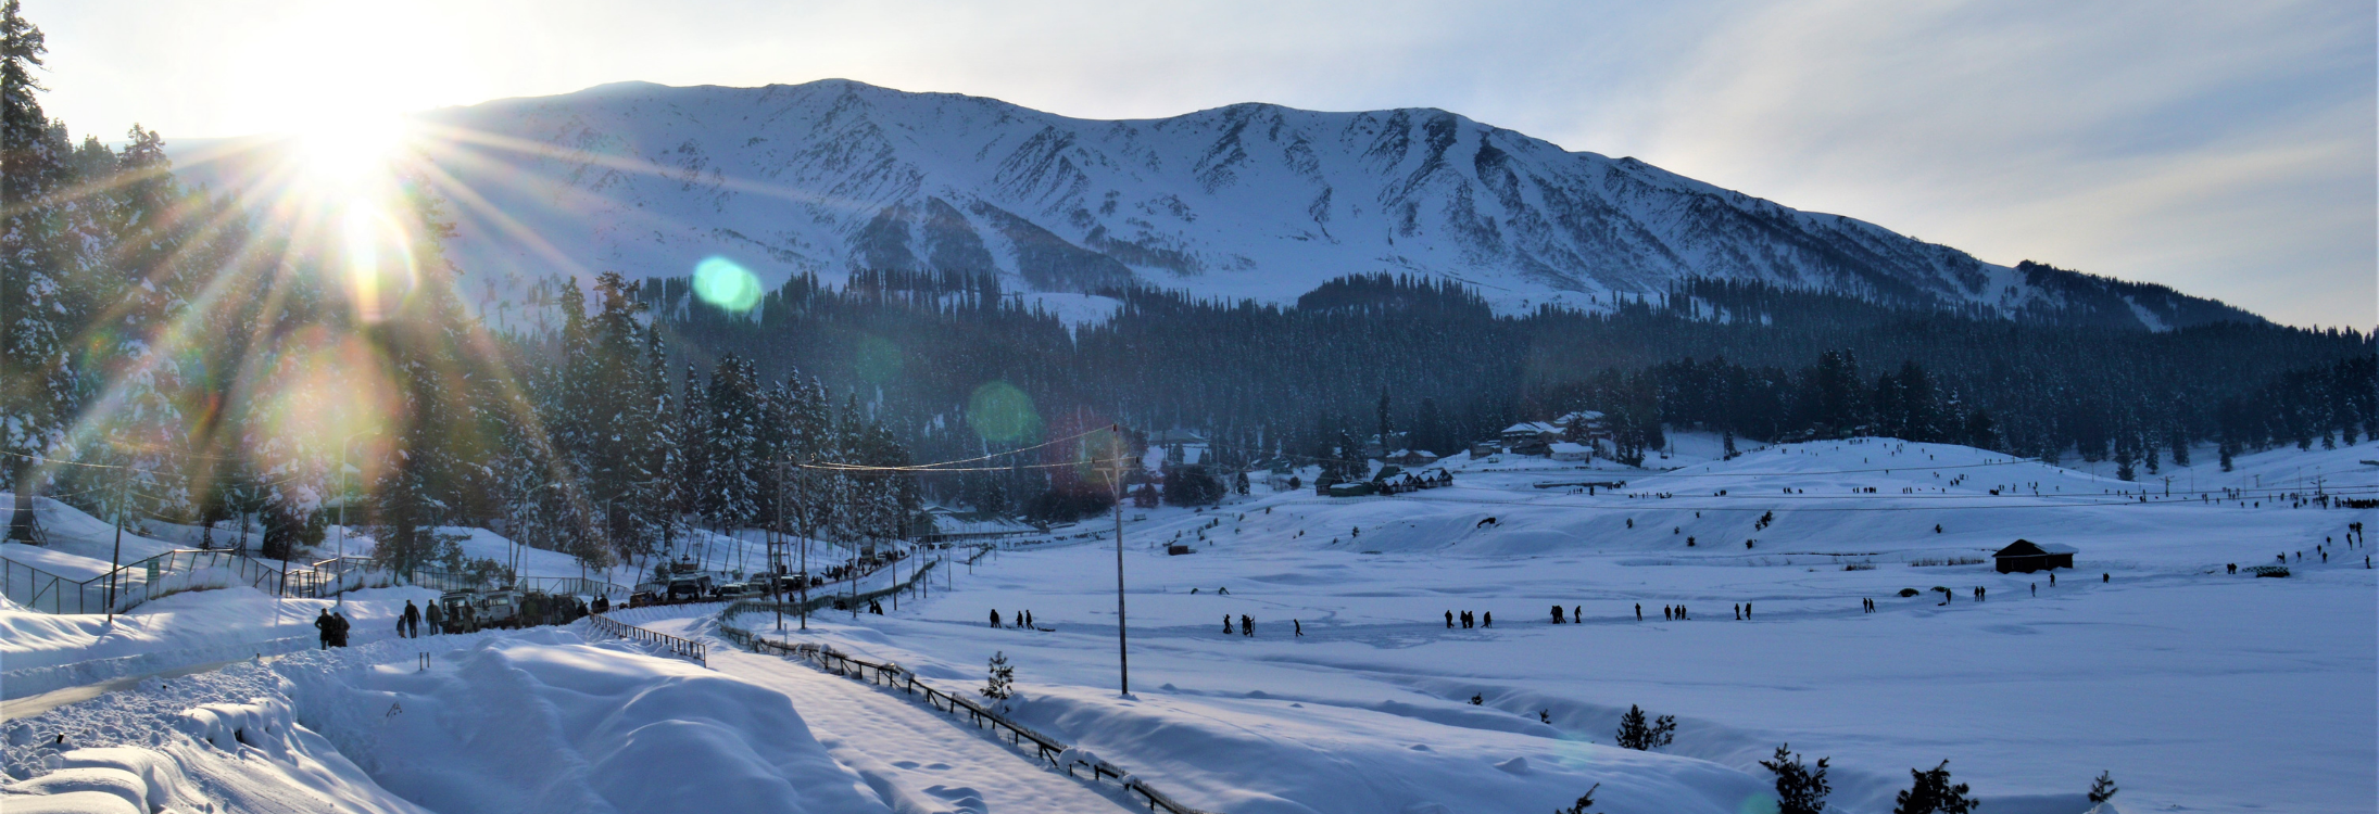
[[[1135, 512], [1144, 519], [1123, 547], [1132, 697], [1116, 695], [1111, 538], [1018, 545], [937, 574], [933, 595], [887, 616], [818, 614], [809, 633], [783, 635], [895, 659], [952, 690], [980, 685], [985, 659], [1004, 652], [1018, 719], [1230, 814], [1542, 812], [1596, 783], [1601, 812], [1760, 812], [1770, 781], [1756, 759], [1782, 743], [1832, 757], [1832, 809], [1848, 814], [1889, 812], [1906, 769], [1941, 759], [1986, 812], [2084, 812], [2098, 771], [2122, 783], [2124, 812], [2379, 804], [2379, 571], [2346, 538], [2379, 512], [2286, 497], [2315, 483], [2367, 495], [2379, 469], [2360, 462], [2379, 459], [2379, 443], [2248, 455], [2232, 474], [2167, 467], [2141, 483], [1898, 440], [1713, 457], [1696, 436], [1646, 462], [1675, 471], [1456, 457], [1456, 486], [1442, 490], [1258, 488], [1209, 512]], [[1627, 486], [1558, 486], [1613, 478]], [[2201, 500], [2191, 486], [2248, 495]], [[2051, 583], [1937, 564], [1986, 562], [2015, 538], [2072, 545], [2077, 569]], [[1163, 555], [1175, 540], [1197, 552]], [[2227, 574], [2281, 555], [2289, 578]], [[145, 614], [193, 605], [178, 612], [195, 628], [200, 605], [238, 616], [236, 602], [259, 600], [214, 590]], [[388, 600], [402, 605], [364, 602]], [[1553, 605], [1584, 621], [1551, 624]], [[1663, 619], [1677, 605], [1691, 621]], [[992, 631], [992, 609], [1032, 612], [1049, 631]], [[1446, 628], [1446, 612], [1494, 614], [1494, 626]], [[1256, 635], [1225, 635], [1223, 616], [1242, 614]], [[0, 612], [12, 643], [21, 616], [38, 614]], [[140, 616], [119, 626], [183, 635]], [[704, 607], [630, 621], [716, 631]], [[462, 650], [416, 671], [416, 650], [442, 647]], [[709, 671], [630, 650], [531, 631], [305, 652], [10, 721], [7, 766], [40, 774], [31, 740], [71, 731], [69, 745], [167, 754], [207, 778], [193, 785], [202, 795], [269, 781], [257, 788], [352, 809], [1125, 807], [892, 690], [716, 640]], [[140, 702], [167, 721], [197, 700], [174, 693], [212, 683], [226, 702], [264, 697], [250, 705], [259, 721], [293, 709], [319, 743], [255, 754], [233, 743], [245, 757], [224, 762], [181, 735], [133, 735], [119, 709]], [[1675, 714], [1675, 745], [1613, 747], [1630, 705]], [[117, 724], [98, 726], [90, 709], [114, 709]]]

